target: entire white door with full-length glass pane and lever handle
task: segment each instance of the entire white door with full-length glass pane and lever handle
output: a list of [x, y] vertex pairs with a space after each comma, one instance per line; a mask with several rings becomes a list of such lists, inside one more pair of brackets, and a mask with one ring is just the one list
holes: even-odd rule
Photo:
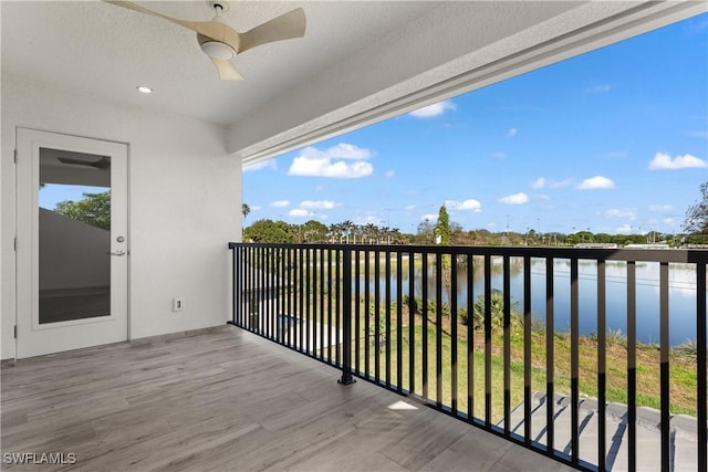
[[17, 357], [128, 337], [127, 145], [17, 129]]

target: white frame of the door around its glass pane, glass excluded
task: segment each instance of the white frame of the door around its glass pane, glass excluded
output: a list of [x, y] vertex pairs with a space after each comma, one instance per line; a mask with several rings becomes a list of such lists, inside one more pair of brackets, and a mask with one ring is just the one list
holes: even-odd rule
[[[53, 148], [112, 158], [111, 315], [39, 324], [39, 149]], [[129, 339], [129, 145], [18, 126], [15, 128], [15, 359]], [[116, 180], [122, 183], [114, 186]], [[31, 182], [31, 183], [28, 183]], [[115, 190], [114, 191], [114, 187]], [[117, 195], [116, 195], [117, 193]], [[114, 201], [123, 204], [114, 207]], [[116, 234], [125, 238], [116, 243]], [[116, 245], [118, 245], [116, 248]]]

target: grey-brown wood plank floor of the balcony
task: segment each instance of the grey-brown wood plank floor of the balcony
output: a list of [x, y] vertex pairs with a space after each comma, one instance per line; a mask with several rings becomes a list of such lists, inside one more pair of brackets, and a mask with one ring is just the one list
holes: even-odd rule
[[566, 471], [233, 326], [2, 367], [2, 452], [81, 471]]

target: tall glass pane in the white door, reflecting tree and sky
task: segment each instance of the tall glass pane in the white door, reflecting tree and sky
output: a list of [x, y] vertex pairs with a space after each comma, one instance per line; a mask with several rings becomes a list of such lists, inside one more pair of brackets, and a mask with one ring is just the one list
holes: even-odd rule
[[111, 157], [40, 148], [39, 324], [111, 315]]

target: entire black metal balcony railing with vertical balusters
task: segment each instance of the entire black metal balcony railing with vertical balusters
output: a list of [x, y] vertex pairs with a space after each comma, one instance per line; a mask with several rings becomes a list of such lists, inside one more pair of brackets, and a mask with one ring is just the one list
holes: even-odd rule
[[229, 249], [230, 323], [341, 369], [342, 384], [372, 381], [577, 469], [706, 470], [708, 251]]

